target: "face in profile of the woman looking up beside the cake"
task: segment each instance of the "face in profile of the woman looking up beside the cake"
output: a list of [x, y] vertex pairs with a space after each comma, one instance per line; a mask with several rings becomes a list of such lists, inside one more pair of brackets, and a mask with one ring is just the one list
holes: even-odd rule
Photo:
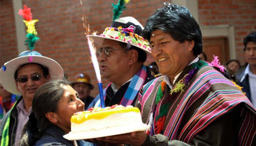
[[79, 99], [78, 93], [69, 85], [64, 85], [64, 93], [61, 97], [58, 110], [54, 113], [56, 125], [65, 133], [71, 131], [71, 116], [76, 112], [84, 111], [84, 103]]

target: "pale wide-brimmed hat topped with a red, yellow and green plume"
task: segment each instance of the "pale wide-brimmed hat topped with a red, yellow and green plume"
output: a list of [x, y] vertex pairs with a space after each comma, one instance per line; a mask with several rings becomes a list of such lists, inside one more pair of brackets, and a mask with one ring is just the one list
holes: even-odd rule
[[34, 46], [39, 40], [37, 37], [37, 31], [35, 30], [35, 22], [38, 20], [32, 19], [32, 14], [30, 8], [24, 5], [24, 9], [19, 9], [19, 15], [22, 15], [25, 20], [23, 20], [27, 26], [27, 39], [25, 45], [29, 46], [29, 50], [23, 51], [18, 57], [5, 62], [0, 69], [0, 82], [3, 87], [16, 95], [21, 95], [21, 93], [16, 89], [14, 74], [20, 65], [27, 63], [37, 63], [45, 66], [49, 69], [49, 74], [51, 79], [61, 79], [64, 77], [63, 69], [60, 64], [55, 60], [42, 56], [37, 51], [34, 51]]

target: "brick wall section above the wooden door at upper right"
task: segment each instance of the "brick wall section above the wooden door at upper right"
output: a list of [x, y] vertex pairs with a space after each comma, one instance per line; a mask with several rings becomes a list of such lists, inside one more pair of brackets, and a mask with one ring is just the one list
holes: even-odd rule
[[256, 0], [198, 0], [200, 26], [234, 26], [236, 58], [244, 64], [246, 35], [256, 31]]

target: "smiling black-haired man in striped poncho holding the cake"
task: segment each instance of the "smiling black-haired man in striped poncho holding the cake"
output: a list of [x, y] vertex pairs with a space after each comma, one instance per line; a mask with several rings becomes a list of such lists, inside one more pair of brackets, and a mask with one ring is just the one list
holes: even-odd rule
[[241, 88], [228, 80], [218, 57], [199, 61], [202, 34], [185, 7], [167, 4], [147, 20], [143, 35], [163, 76], [138, 96], [142, 121], [150, 126], [92, 139], [133, 146], [255, 145], [256, 111]]

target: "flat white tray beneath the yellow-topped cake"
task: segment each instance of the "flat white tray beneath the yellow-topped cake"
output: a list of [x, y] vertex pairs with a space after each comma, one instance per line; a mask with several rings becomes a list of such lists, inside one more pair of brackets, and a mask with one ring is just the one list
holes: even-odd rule
[[117, 127], [109, 127], [100, 130], [91, 130], [91, 131], [83, 131], [83, 132], [69, 132], [66, 135], [63, 135], [65, 139], [69, 141], [81, 140], [81, 139], [92, 139], [99, 137], [108, 137], [112, 135], [119, 135], [131, 132], [145, 131], [149, 128], [147, 124], [142, 124], [139, 126], [117, 126]]

